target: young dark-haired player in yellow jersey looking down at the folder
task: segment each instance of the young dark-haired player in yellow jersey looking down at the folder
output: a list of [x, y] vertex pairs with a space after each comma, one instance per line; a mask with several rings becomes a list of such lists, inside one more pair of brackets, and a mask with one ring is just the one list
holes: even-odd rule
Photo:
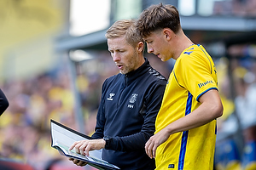
[[194, 44], [180, 26], [177, 8], [152, 5], [137, 27], [148, 53], [162, 61], [176, 59], [155, 122], [155, 133], [145, 144], [156, 169], [213, 168], [216, 118], [223, 105], [218, 94], [217, 72], [205, 48]]

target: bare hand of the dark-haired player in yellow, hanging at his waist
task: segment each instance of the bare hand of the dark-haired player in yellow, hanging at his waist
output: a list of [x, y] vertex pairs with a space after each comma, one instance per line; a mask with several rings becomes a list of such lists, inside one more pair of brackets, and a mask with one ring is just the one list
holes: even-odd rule
[[169, 138], [169, 133], [165, 129], [162, 129], [159, 133], [154, 134], [148, 139], [148, 142], [145, 144], [145, 151], [147, 155], [152, 159], [155, 158], [155, 152], [157, 147], [160, 144], [166, 142]]

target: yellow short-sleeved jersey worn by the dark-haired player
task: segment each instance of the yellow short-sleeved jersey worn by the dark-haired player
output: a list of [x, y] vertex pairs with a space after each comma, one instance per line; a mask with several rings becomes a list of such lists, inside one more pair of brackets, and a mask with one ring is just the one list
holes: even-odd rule
[[[212, 88], [217, 89], [217, 83], [215, 65], [205, 49], [198, 45], [186, 48], [177, 59], [167, 82], [155, 122], [155, 133], [185, 116], [186, 112], [194, 111], [201, 105], [197, 101], [201, 94]], [[191, 106], [191, 111], [186, 111], [187, 106]], [[174, 133], [156, 150], [156, 169], [176, 170], [179, 166], [179, 170], [212, 169], [215, 140], [216, 120], [189, 130], [186, 138], [183, 138], [183, 133]], [[180, 156], [184, 159], [179, 161]]]

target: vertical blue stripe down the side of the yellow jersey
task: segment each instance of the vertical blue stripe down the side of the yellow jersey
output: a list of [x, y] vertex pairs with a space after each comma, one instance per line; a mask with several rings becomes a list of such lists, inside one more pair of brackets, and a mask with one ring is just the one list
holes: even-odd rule
[[[192, 97], [193, 97], [192, 94], [188, 93], [185, 116], [189, 115], [189, 113], [191, 112]], [[178, 167], [177, 167], [178, 170], [183, 170], [183, 167], [184, 167], [184, 159], [185, 159], [188, 135], [189, 135], [189, 131], [183, 132], [181, 149], [180, 149], [180, 154], [179, 154], [179, 158], [178, 158]]]

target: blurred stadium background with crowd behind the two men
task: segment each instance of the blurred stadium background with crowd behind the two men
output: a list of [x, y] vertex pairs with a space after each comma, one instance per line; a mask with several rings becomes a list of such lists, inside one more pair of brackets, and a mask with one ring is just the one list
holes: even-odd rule
[[[224, 116], [214, 168], [256, 169], [256, 0], [0, 0], [0, 88], [9, 99], [0, 169], [93, 169], [50, 147], [49, 120], [93, 133], [102, 82], [118, 73], [106, 30], [160, 2], [178, 8], [183, 30], [217, 67]], [[168, 77], [174, 60], [145, 56]]]

